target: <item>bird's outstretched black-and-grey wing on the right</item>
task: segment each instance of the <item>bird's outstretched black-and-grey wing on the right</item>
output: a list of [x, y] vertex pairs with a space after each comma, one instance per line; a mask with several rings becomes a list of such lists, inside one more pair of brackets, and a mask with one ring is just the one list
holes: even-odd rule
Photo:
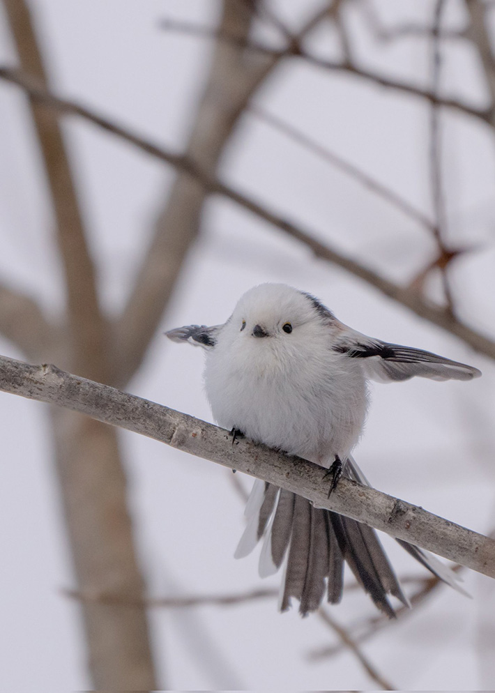
[[471, 380], [481, 375], [478, 368], [466, 363], [431, 351], [374, 340], [347, 327], [333, 349], [360, 360], [365, 375], [381, 383], [409, 380], [414, 376], [432, 380]]

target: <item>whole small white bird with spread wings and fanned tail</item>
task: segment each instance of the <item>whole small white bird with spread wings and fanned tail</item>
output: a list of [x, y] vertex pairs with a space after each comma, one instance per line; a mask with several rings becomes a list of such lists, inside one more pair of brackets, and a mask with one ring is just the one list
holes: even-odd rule
[[[170, 330], [175, 342], [206, 349], [206, 395], [218, 425], [253, 441], [299, 455], [369, 485], [351, 457], [363, 430], [367, 379], [471, 380], [480, 371], [429, 351], [366, 337], [338, 321], [317, 298], [285, 284], [261, 284], [238, 301], [226, 323]], [[409, 602], [375, 531], [301, 496], [257, 480], [245, 515], [248, 526], [236, 557], [265, 537], [261, 576], [287, 554], [282, 611], [290, 598], [300, 613], [342, 597], [347, 561], [379, 609], [395, 615], [387, 594]], [[457, 577], [423, 549], [398, 540], [420, 563], [459, 591]]]

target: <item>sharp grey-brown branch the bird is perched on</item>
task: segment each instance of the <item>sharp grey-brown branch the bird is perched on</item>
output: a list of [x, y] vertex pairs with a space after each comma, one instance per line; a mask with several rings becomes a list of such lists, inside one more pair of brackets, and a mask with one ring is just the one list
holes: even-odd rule
[[241, 439], [229, 432], [147, 399], [63, 372], [0, 357], [0, 390], [50, 402], [98, 421], [125, 428], [191, 455], [280, 486], [395, 538], [495, 577], [495, 541], [446, 519], [347, 479], [328, 496], [321, 467], [300, 457]]

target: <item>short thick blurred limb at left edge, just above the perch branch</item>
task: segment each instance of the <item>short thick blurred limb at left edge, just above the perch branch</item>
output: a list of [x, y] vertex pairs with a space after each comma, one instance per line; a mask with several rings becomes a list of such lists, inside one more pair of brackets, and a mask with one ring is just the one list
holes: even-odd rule
[[27, 358], [45, 358], [56, 333], [36, 300], [0, 284], [0, 332]]

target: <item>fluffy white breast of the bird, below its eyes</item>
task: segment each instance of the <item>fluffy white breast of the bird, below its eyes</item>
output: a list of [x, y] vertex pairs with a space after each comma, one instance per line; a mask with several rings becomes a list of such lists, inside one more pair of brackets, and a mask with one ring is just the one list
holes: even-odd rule
[[277, 350], [277, 343], [227, 340], [207, 354], [205, 386], [218, 424], [254, 441], [330, 466], [356, 445], [367, 389], [356, 360], [314, 345]]

